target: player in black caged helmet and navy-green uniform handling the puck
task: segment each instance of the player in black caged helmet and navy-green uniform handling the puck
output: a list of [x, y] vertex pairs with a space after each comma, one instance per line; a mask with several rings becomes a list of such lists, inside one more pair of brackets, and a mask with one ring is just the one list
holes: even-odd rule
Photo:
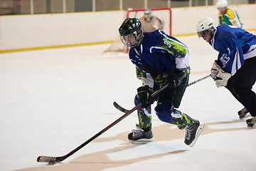
[[[151, 141], [151, 104], [157, 101], [156, 115], [166, 123], [186, 129], [185, 143], [193, 146], [203, 125], [196, 119], [177, 110], [188, 85], [190, 68], [188, 66], [188, 48], [176, 38], [156, 30], [144, 33], [139, 19], [124, 20], [119, 28], [124, 46], [130, 47], [129, 58], [136, 66], [137, 78], [142, 86], [137, 89], [134, 103], [142, 103], [137, 110], [138, 130], [129, 133], [128, 139], [133, 142]], [[154, 90], [169, 83], [158, 98], [152, 99]], [[198, 134], [196, 134], [198, 133]]]

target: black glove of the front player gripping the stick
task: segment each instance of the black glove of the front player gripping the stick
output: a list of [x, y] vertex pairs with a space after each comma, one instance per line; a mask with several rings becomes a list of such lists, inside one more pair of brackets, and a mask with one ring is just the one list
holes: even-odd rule
[[142, 103], [143, 108], [147, 108], [149, 105], [154, 103], [154, 99], [151, 97], [153, 90], [149, 86], [139, 87], [137, 89], [137, 95]]

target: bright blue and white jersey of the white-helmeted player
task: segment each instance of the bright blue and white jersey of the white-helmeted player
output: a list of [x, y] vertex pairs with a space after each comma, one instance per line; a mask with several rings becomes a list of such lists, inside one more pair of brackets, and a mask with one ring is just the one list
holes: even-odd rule
[[209, 43], [219, 52], [218, 65], [232, 76], [247, 58], [256, 56], [256, 36], [235, 26], [218, 26]]

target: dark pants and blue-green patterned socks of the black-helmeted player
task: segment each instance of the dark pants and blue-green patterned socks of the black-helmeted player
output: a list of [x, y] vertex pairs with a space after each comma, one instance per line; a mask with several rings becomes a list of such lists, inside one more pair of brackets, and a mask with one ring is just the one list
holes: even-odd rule
[[[180, 86], [176, 88], [166, 88], [157, 98], [156, 115], [159, 120], [174, 125], [190, 125], [191, 117], [175, 109], [181, 104], [183, 94], [188, 85], [188, 77], [183, 78]], [[140, 103], [137, 95], [134, 99], [135, 105]], [[139, 127], [142, 130], [151, 130], [151, 105], [148, 108], [138, 108], [137, 110]]]

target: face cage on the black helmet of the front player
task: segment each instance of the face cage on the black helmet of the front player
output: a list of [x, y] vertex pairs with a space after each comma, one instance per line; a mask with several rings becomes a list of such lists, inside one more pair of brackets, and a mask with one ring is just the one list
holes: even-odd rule
[[[137, 37], [139, 36], [139, 40], [137, 40]], [[137, 34], [137, 31], [134, 31], [134, 33], [131, 33], [127, 36], [123, 36], [120, 34], [120, 39], [124, 46], [127, 46], [129, 48], [136, 48], [139, 46], [139, 44], [142, 42], [142, 31], [139, 31], [139, 34]]]

